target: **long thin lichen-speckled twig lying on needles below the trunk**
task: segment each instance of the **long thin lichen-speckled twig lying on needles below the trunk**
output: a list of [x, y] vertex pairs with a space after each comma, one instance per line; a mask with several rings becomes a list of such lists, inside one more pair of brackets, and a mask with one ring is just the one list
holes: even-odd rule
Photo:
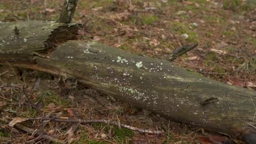
[[121, 126], [123, 128], [127, 128], [132, 131], [139, 131], [141, 133], [150, 133], [150, 134], [163, 134], [164, 131], [152, 131], [148, 129], [142, 129], [142, 128], [136, 128], [132, 127], [130, 125], [125, 125], [119, 122], [115, 122], [112, 120], [82, 120], [82, 119], [70, 119], [68, 117], [56, 117], [56, 118], [48, 118], [48, 117], [35, 117], [35, 118], [28, 118], [27, 120], [49, 120], [49, 121], [54, 121], [54, 122], [64, 122], [64, 123], [106, 123], [106, 124], [111, 124], [111, 125], [116, 125], [116, 126]]

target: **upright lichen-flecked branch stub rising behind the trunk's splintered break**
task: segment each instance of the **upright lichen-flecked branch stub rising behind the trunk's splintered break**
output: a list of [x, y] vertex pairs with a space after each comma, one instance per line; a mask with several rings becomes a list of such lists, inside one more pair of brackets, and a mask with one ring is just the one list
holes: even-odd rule
[[56, 22], [66, 24], [70, 23], [74, 16], [77, 2], [78, 0], [65, 0], [64, 5], [61, 8], [59, 19]]

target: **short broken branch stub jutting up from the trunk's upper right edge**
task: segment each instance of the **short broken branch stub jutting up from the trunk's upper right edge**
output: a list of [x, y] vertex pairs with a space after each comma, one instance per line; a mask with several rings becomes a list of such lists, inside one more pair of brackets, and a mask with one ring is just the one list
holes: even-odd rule
[[179, 56], [183, 55], [184, 53], [187, 53], [188, 51], [192, 50], [197, 45], [198, 45], [198, 43], [195, 43], [193, 45], [183, 45], [179, 48], [176, 48], [169, 56], [168, 61], [173, 61], [174, 59], [178, 58]]

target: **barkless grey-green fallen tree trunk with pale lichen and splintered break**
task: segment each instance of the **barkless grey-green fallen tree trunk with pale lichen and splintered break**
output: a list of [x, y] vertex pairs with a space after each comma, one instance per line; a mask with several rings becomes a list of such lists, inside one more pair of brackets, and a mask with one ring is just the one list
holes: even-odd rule
[[0, 64], [77, 79], [136, 107], [211, 131], [237, 134], [254, 125], [255, 91], [210, 80], [166, 60], [72, 40], [77, 29], [76, 24], [51, 21], [0, 23]]

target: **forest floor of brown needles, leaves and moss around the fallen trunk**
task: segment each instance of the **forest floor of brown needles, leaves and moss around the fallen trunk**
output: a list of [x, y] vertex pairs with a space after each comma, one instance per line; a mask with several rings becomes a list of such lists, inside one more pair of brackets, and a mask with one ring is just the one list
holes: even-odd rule
[[[56, 20], [64, 0], [0, 0], [0, 21]], [[175, 48], [198, 46], [174, 61], [200, 75], [256, 90], [255, 0], [80, 0], [73, 19], [81, 39], [93, 39], [141, 56], [167, 59]], [[31, 143], [35, 133], [8, 127], [14, 118], [74, 117], [114, 120], [148, 134], [104, 123], [31, 120], [21, 124], [75, 144], [224, 144], [227, 136], [166, 120], [61, 77], [0, 66], [0, 141]], [[27, 97], [40, 107], [37, 112]], [[242, 143], [236, 137], [230, 138]], [[231, 143], [230, 143], [231, 144]]]

